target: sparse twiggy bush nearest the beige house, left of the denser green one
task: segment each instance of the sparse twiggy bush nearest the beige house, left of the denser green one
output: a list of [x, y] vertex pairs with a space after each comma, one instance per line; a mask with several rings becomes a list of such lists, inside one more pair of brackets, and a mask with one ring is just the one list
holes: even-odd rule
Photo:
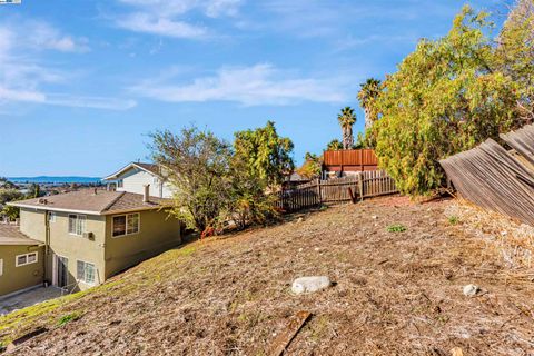
[[229, 200], [229, 145], [196, 127], [178, 135], [159, 131], [151, 138], [152, 159], [165, 167], [175, 187], [174, 215], [199, 231], [216, 226]]

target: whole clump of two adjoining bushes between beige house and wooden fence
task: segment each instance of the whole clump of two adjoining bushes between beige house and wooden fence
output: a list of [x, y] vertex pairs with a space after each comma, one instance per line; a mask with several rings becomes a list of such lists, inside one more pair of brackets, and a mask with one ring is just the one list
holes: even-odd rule
[[210, 131], [151, 135], [152, 159], [175, 187], [172, 214], [204, 236], [234, 220], [243, 228], [276, 217], [276, 191], [294, 169], [293, 142], [268, 121], [239, 131], [234, 146]]

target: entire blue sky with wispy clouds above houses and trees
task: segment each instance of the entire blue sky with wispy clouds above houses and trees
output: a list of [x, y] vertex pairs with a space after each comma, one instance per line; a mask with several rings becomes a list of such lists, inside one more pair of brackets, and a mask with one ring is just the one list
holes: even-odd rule
[[[105, 176], [148, 156], [147, 134], [191, 122], [233, 132], [277, 123], [295, 159], [339, 138], [457, 0], [22, 0], [0, 6], [0, 176]], [[472, 1], [502, 10], [503, 1]], [[498, 23], [502, 19], [496, 18]]]

